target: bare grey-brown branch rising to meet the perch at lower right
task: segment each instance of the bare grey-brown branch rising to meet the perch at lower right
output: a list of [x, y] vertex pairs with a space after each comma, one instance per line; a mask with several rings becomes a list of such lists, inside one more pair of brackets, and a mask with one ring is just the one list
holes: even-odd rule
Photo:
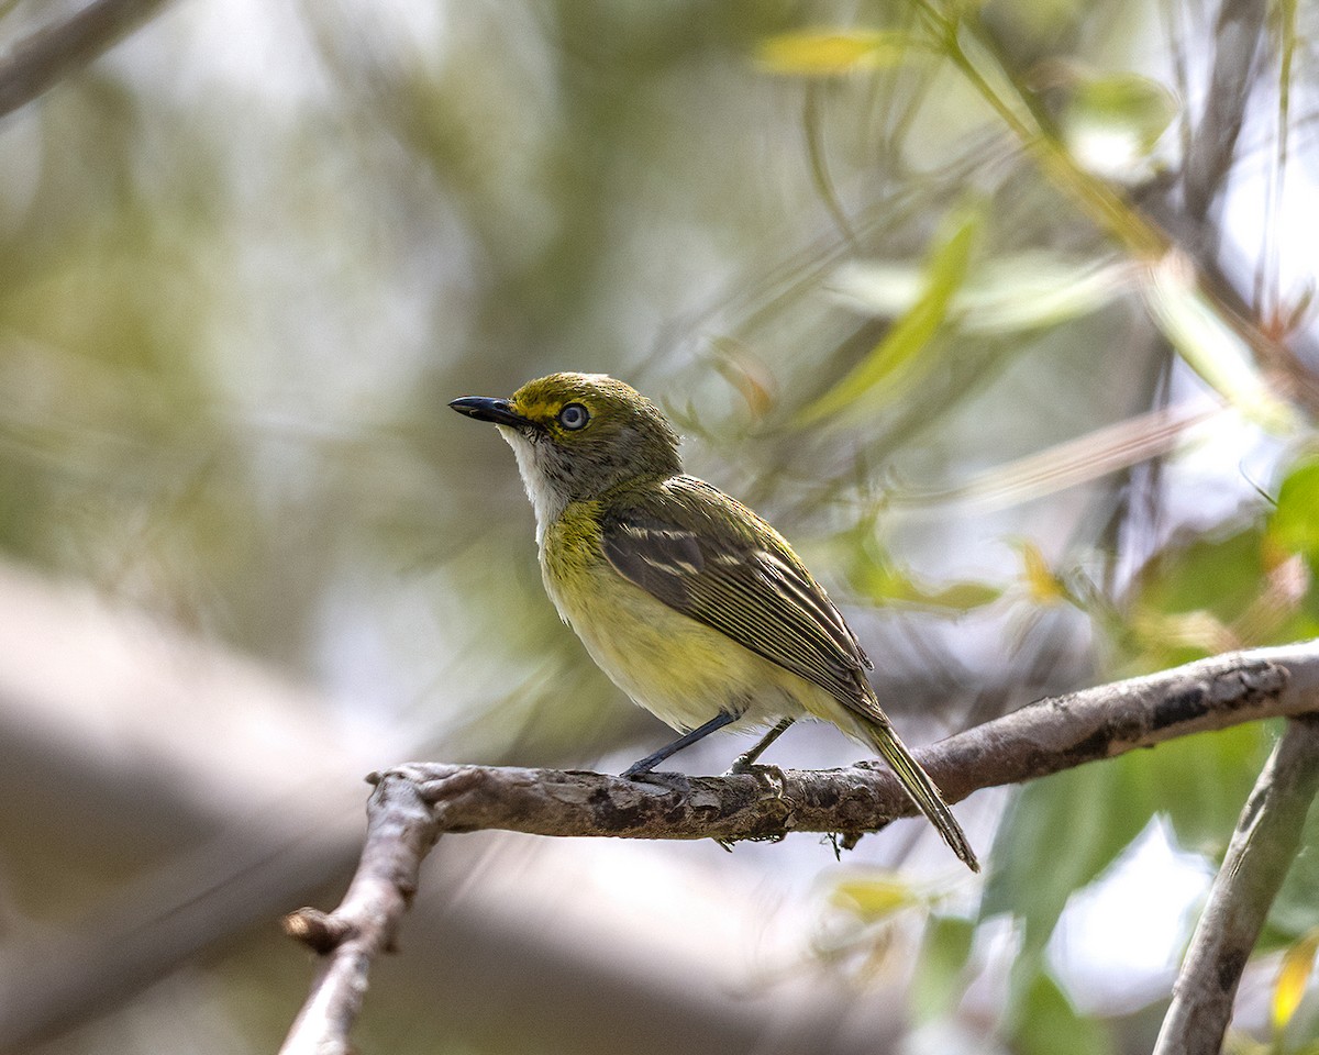
[[1319, 719], [1287, 723], [1232, 835], [1154, 1055], [1216, 1055], [1241, 971], [1301, 845], [1319, 791]]

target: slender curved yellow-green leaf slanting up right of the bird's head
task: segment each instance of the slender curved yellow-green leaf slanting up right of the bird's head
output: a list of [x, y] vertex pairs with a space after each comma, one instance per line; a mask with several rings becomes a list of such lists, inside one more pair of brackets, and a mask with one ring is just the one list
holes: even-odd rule
[[911, 365], [947, 320], [983, 227], [984, 207], [962, 208], [948, 219], [947, 233], [935, 240], [926, 261], [925, 289], [911, 310], [842, 381], [801, 411], [799, 423], [809, 425], [852, 406], [873, 388]]

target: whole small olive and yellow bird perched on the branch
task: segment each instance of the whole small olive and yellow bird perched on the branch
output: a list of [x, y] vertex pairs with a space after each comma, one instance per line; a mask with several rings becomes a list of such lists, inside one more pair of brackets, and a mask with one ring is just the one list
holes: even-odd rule
[[554, 373], [512, 400], [454, 410], [495, 422], [536, 506], [550, 599], [591, 657], [682, 737], [624, 775], [652, 770], [724, 725], [797, 717], [873, 746], [956, 855], [975, 852], [939, 789], [898, 740], [867, 680], [871, 661], [791, 546], [751, 509], [682, 473], [678, 435], [630, 386]]

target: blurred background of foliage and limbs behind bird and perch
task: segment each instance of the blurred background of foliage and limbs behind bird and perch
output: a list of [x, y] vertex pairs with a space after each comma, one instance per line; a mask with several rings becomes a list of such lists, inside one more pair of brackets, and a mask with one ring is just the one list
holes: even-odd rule
[[[367, 771], [665, 741], [559, 624], [456, 396], [656, 400], [913, 744], [1319, 633], [1316, 30], [1297, 0], [0, 3], [0, 1050], [272, 1051], [313, 975], [278, 917], [336, 902]], [[983, 877], [917, 822], [840, 856], [451, 836], [357, 1039], [1148, 1051], [1275, 736], [980, 793]], [[806, 727], [766, 761], [856, 757]], [[1314, 839], [1235, 1051], [1319, 1043]]]

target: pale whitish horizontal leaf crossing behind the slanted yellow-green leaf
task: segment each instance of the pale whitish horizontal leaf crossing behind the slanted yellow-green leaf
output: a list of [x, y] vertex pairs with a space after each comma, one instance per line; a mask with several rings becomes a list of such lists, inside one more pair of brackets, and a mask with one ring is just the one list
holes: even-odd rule
[[[952, 298], [950, 314], [967, 334], [1021, 334], [1060, 326], [1107, 307], [1132, 289], [1130, 261], [1076, 260], [1047, 251], [996, 257]], [[847, 303], [881, 316], [909, 311], [921, 295], [921, 269], [902, 262], [845, 264], [834, 290]]]

